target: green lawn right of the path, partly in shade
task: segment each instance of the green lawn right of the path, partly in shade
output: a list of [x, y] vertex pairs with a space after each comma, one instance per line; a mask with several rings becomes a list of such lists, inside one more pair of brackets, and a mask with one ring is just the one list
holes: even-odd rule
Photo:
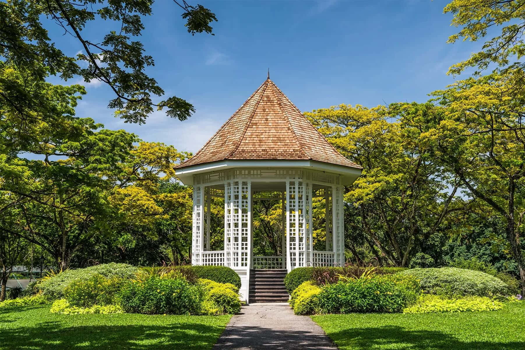
[[523, 350], [525, 302], [498, 311], [312, 316], [342, 350]]

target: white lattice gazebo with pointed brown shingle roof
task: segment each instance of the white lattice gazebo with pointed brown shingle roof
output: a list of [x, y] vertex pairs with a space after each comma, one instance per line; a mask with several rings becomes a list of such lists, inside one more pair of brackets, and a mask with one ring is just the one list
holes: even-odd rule
[[[193, 186], [192, 264], [231, 267], [246, 301], [254, 269], [344, 263], [343, 186], [360, 176], [361, 167], [340, 155], [269, 77], [175, 171]], [[222, 251], [210, 250], [213, 197], [224, 198]], [[325, 199], [324, 251], [312, 244], [316, 197]], [[255, 199], [282, 201], [282, 256], [253, 255]]]

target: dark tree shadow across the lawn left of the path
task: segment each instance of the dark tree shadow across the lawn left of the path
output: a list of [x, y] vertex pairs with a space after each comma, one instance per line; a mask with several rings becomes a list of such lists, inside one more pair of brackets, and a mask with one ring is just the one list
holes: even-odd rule
[[43, 322], [36, 327], [7, 328], [0, 332], [0, 349], [207, 349], [222, 327], [196, 322], [159, 325], [64, 327]]

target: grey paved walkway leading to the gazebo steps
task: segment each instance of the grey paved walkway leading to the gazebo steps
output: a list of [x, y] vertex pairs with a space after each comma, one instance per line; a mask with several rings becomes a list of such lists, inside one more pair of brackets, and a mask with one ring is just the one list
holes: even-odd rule
[[337, 349], [317, 323], [293, 314], [287, 303], [243, 306], [215, 349]]

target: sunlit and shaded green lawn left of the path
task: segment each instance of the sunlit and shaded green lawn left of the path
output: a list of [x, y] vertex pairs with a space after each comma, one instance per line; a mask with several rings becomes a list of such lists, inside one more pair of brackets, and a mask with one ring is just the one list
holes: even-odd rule
[[209, 349], [231, 316], [62, 315], [0, 309], [0, 349]]

